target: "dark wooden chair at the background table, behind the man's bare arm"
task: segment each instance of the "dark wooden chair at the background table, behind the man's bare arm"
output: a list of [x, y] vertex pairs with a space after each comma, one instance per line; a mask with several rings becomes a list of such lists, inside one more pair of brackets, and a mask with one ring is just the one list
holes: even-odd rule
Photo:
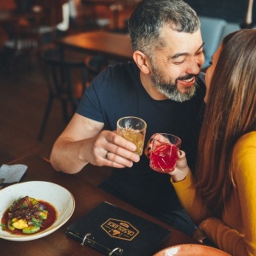
[[64, 122], [67, 123], [71, 119], [78, 107], [80, 98], [84, 94], [87, 78], [84, 60], [62, 60], [59, 50], [51, 49], [46, 51], [42, 60], [49, 96], [38, 140], [42, 140], [44, 137], [49, 113], [55, 100], [61, 102]]

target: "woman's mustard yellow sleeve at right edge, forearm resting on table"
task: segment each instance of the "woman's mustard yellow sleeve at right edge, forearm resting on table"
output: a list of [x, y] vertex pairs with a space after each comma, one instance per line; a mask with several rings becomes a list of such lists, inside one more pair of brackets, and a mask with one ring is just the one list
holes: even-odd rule
[[243, 234], [230, 228], [219, 219], [211, 219], [205, 227], [207, 237], [218, 247], [233, 256], [256, 255], [256, 132], [242, 137], [233, 151], [231, 172], [235, 183], [234, 193], [239, 205], [229, 214], [240, 211]]

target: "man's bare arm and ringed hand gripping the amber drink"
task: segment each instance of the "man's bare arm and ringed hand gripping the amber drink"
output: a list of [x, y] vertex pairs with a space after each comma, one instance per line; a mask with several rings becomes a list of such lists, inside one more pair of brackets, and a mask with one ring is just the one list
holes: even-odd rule
[[103, 126], [103, 123], [75, 113], [50, 154], [55, 170], [76, 173], [88, 163], [124, 168], [137, 162], [139, 156], [133, 153], [136, 146], [113, 131], [102, 131]]

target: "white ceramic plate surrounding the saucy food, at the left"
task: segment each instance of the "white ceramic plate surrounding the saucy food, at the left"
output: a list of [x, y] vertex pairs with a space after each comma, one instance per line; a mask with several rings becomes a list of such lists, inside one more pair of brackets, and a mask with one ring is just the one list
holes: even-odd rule
[[73, 195], [65, 188], [55, 183], [32, 181], [17, 183], [0, 190], [0, 221], [3, 213], [20, 196], [30, 196], [38, 200], [47, 201], [57, 211], [57, 218], [47, 230], [32, 235], [18, 236], [9, 234], [0, 228], [0, 238], [12, 241], [30, 241], [47, 236], [59, 229], [72, 216], [75, 201]]

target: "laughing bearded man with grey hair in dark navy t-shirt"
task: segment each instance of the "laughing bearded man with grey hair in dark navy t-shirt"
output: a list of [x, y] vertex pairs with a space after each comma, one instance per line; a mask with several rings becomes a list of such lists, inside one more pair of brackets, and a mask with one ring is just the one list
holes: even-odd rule
[[131, 15], [129, 32], [134, 61], [109, 66], [92, 81], [50, 161], [67, 173], [88, 163], [112, 166], [100, 188], [192, 235], [195, 225], [170, 176], [154, 172], [147, 156], [135, 154], [136, 146], [115, 130], [121, 117], [144, 119], [146, 141], [158, 132], [180, 137], [193, 169], [206, 90], [200, 21], [182, 0], [143, 0]]

